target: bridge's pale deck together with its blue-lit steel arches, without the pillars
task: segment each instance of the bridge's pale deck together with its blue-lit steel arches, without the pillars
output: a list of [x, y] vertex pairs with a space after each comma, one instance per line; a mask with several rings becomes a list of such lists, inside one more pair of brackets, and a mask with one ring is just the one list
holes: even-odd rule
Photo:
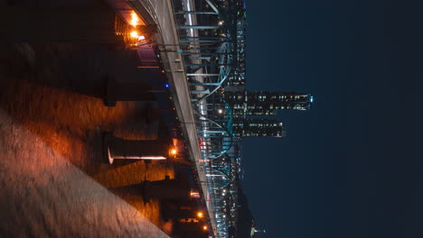
[[[231, 173], [235, 172], [231, 155], [232, 112], [219, 90], [228, 80], [236, 60], [236, 21], [229, 14], [233, 9], [227, 3], [214, 5], [211, 0], [125, 3], [130, 7], [125, 11], [132, 10], [142, 19], [137, 23], [157, 26], [155, 36], [160, 59], [171, 86], [189, 158], [198, 172], [211, 233], [214, 237], [229, 237], [230, 215], [225, 197], [230, 190], [237, 190], [228, 188]], [[119, 11], [124, 17], [128, 15]]]

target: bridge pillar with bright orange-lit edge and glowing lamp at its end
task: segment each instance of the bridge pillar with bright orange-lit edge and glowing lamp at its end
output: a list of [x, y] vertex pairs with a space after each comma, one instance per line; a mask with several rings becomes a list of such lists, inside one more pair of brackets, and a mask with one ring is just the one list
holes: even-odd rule
[[166, 160], [175, 153], [168, 141], [123, 140], [111, 133], [103, 137], [103, 154], [110, 164], [114, 160]]

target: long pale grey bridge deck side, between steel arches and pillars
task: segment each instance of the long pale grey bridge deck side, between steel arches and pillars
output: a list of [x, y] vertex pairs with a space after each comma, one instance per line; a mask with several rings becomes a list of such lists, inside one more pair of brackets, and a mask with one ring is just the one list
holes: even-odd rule
[[[135, 2], [135, 1], [133, 1]], [[138, 4], [138, 3], [137, 3]], [[214, 214], [211, 209], [211, 201], [209, 199], [209, 188], [206, 182], [206, 174], [204, 166], [201, 162], [202, 151], [199, 146], [199, 139], [193, 107], [191, 105], [191, 96], [188, 89], [187, 75], [183, 67], [182, 56], [176, 51], [179, 50], [179, 39], [176, 32], [176, 23], [174, 23], [174, 10], [171, 0], [149, 0], [139, 2], [143, 5], [145, 12], [138, 14], [150, 14], [153, 16], [158, 26], [157, 41], [164, 45], [165, 50], [161, 51], [161, 57], [164, 63], [166, 75], [171, 84], [171, 92], [174, 97], [176, 113], [181, 120], [183, 127], [183, 136], [185, 137], [186, 146], [190, 153], [190, 158], [195, 163], [202, 187], [202, 197], [206, 201], [207, 210], [211, 222], [211, 229], [214, 234], [217, 233], [217, 226]], [[135, 9], [140, 11], [142, 8]]]

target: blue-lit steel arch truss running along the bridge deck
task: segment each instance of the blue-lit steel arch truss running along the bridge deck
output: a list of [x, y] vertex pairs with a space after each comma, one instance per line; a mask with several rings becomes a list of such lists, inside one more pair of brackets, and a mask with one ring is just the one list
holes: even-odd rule
[[[195, 5], [199, 2], [201, 5]], [[225, 169], [230, 166], [233, 114], [220, 96], [235, 69], [236, 23], [227, 17], [228, 2], [173, 0], [177, 51], [182, 56], [191, 93], [216, 237], [229, 237], [229, 194], [224, 191], [234, 180]]]

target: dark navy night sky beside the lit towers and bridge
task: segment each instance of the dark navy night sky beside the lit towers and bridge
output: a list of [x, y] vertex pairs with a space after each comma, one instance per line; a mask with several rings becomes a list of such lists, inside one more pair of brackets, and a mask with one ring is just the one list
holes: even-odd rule
[[422, 5], [248, 1], [248, 88], [315, 96], [243, 142], [267, 237], [423, 237]]

